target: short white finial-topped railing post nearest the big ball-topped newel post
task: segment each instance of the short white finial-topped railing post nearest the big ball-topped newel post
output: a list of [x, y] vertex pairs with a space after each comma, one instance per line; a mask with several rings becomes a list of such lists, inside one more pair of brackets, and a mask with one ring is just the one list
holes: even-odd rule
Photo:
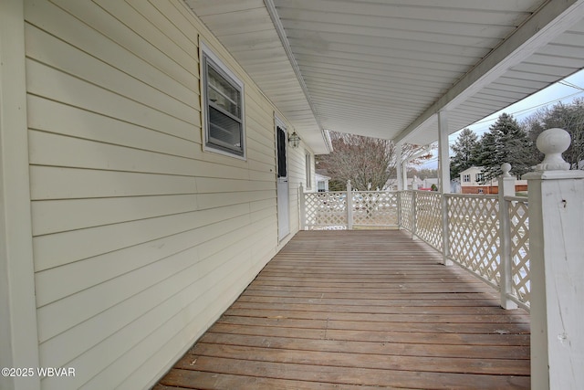
[[501, 165], [503, 174], [499, 177], [499, 240], [501, 242], [501, 307], [516, 309], [517, 304], [510, 300], [513, 292], [513, 257], [511, 256], [511, 223], [506, 196], [515, 196], [515, 177], [511, 176], [511, 164]]

